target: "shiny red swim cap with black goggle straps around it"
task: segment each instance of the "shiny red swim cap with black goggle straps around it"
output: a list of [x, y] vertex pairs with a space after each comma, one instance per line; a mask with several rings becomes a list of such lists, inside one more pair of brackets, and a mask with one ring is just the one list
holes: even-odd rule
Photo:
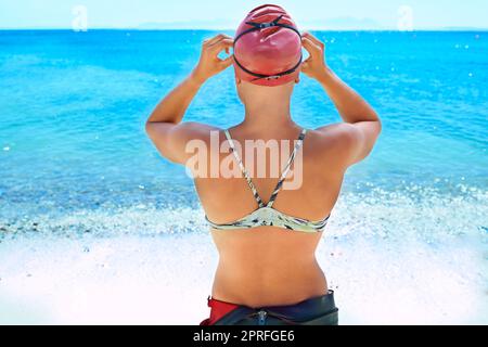
[[290, 14], [274, 4], [249, 12], [234, 38], [236, 76], [258, 86], [281, 86], [298, 77], [301, 35]]

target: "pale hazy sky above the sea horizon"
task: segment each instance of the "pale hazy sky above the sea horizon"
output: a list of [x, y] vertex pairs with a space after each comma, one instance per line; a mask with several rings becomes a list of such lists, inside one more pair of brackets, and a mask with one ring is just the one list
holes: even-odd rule
[[[0, 28], [72, 28], [85, 23], [88, 29], [231, 29], [262, 3], [266, 2], [0, 0]], [[488, 0], [281, 0], [271, 3], [284, 7], [304, 29], [488, 28]]]

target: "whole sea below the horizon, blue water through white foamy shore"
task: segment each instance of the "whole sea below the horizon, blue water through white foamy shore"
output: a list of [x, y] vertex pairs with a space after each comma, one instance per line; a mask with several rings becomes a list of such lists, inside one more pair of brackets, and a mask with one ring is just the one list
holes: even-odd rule
[[[318, 250], [341, 323], [487, 324], [488, 33], [313, 34], [383, 120]], [[217, 253], [203, 210], [144, 123], [214, 35], [0, 31], [0, 323], [208, 313]], [[341, 121], [307, 77], [292, 114], [310, 128]], [[230, 68], [185, 120], [243, 115]]]

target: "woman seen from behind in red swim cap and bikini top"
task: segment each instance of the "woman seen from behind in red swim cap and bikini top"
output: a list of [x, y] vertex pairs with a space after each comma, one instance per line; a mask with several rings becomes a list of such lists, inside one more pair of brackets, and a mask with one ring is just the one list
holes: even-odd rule
[[[232, 56], [218, 57], [232, 47]], [[305, 62], [303, 47], [309, 53]], [[223, 131], [181, 123], [202, 85], [232, 64], [244, 121]], [[291, 97], [300, 72], [322, 85], [344, 123], [311, 130], [292, 120]], [[381, 128], [373, 108], [326, 66], [324, 44], [300, 35], [280, 7], [253, 10], [235, 39], [218, 35], [204, 42], [195, 69], [146, 124], [162, 155], [194, 172], [191, 141], [206, 144], [200, 167], [211, 167], [217, 157], [233, 172], [237, 168], [229, 177], [221, 165], [219, 175], [194, 180], [220, 256], [208, 298], [210, 318], [202, 325], [337, 324], [333, 292], [314, 253], [347, 168], [369, 155]], [[213, 134], [227, 153], [213, 145]], [[249, 157], [249, 140], [281, 143], [275, 153], [281, 175], [251, 174], [253, 166], [270, 172], [277, 157]], [[298, 176], [299, 184], [292, 184]]]

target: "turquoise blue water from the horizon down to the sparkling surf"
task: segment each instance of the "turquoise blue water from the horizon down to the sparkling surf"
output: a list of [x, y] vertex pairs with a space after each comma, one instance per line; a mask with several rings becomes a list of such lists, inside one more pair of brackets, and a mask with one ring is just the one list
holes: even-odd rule
[[[191, 70], [210, 35], [1, 31], [2, 216], [193, 204], [190, 180], [158, 157], [143, 123]], [[447, 194], [462, 193], [459, 184], [486, 190], [486, 33], [318, 36], [328, 41], [330, 65], [384, 123], [374, 154], [349, 172], [346, 192], [357, 185], [367, 192], [365, 183], [400, 192], [411, 184]], [[205, 86], [188, 120], [223, 127], [242, 119], [232, 74]], [[305, 77], [293, 114], [308, 127], [339, 120], [321, 88]]]

